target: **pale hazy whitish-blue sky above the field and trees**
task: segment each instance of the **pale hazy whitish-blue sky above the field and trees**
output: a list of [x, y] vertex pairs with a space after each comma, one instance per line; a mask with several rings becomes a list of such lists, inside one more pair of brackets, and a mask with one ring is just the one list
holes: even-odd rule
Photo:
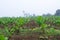
[[60, 0], [0, 0], [0, 17], [23, 16], [23, 10], [36, 15], [54, 14], [57, 9], [60, 9]]

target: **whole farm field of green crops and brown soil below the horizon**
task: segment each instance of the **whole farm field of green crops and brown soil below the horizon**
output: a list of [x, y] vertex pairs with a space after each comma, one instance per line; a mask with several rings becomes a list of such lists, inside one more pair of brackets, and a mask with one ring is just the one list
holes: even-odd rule
[[60, 16], [0, 18], [0, 40], [59, 39]]

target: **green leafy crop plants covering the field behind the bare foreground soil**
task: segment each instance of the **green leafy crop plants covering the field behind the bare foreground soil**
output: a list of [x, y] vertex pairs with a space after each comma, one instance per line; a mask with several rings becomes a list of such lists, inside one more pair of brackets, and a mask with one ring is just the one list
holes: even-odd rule
[[[36, 22], [39, 27], [27, 28], [27, 23]], [[26, 28], [23, 28], [26, 25]], [[35, 24], [33, 24], [34, 26]], [[30, 25], [28, 25], [29, 27]], [[32, 27], [33, 27], [32, 26]], [[60, 16], [35, 16], [35, 17], [2, 17], [0, 18], [0, 40], [7, 40], [12, 35], [28, 36], [32, 34], [39, 36], [60, 35]]]

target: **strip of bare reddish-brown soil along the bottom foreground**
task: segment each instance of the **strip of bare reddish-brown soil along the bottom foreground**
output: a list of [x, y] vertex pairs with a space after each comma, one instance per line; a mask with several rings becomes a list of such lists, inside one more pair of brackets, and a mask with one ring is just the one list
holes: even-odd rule
[[9, 37], [9, 40], [48, 40], [48, 39], [39, 38], [38, 35], [32, 35], [32, 36], [12, 35], [11, 37]]

